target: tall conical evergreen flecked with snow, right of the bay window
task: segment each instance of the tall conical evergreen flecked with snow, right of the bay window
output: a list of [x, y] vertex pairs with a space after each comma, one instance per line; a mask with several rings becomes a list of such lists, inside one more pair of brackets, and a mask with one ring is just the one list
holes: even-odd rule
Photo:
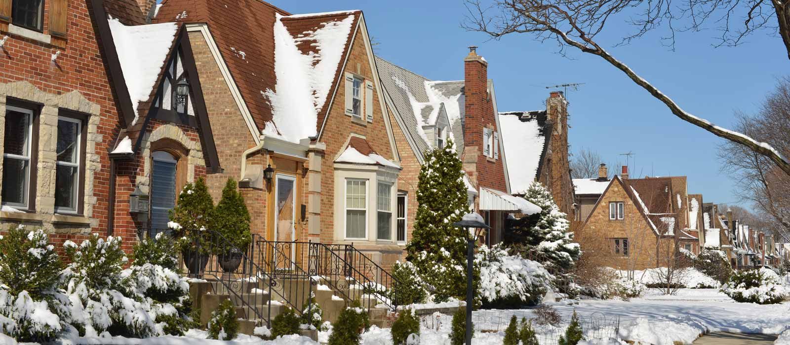
[[463, 164], [453, 143], [426, 154], [419, 170], [417, 213], [406, 260], [435, 288], [434, 300], [465, 299], [465, 229], [453, 226], [468, 213]]

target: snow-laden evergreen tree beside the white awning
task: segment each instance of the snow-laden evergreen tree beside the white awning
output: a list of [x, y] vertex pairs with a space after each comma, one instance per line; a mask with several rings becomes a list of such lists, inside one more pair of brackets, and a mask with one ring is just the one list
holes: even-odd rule
[[570, 222], [559, 211], [551, 192], [540, 182], [532, 182], [524, 195], [542, 210], [513, 222], [507, 242], [517, 250], [536, 251], [548, 269], [568, 272], [578, 260], [581, 250], [574, 243], [574, 233], [568, 231]]

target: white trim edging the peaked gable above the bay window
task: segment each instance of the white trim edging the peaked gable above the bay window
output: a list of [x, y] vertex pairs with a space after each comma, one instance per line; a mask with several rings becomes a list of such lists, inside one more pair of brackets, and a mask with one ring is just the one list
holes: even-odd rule
[[371, 74], [373, 75], [375, 89], [378, 90], [378, 105], [382, 108], [382, 120], [384, 120], [384, 126], [387, 128], [389, 147], [393, 152], [393, 160], [401, 161], [401, 155], [398, 153], [397, 146], [395, 145], [395, 135], [393, 134], [393, 128], [389, 123], [389, 116], [387, 116], [386, 102], [383, 95], [384, 87], [382, 87], [382, 83], [378, 79], [378, 69], [376, 69], [375, 56], [373, 54], [373, 47], [371, 46], [371, 38], [367, 34], [367, 25], [365, 24], [365, 17], [363, 13], [359, 13], [359, 22], [357, 23], [356, 28], [354, 28], [354, 35], [351, 37], [351, 41], [348, 44], [348, 50], [346, 51], [345, 57], [343, 58], [343, 69], [340, 70], [340, 76], [338, 76], [337, 83], [335, 83], [334, 90], [332, 91], [332, 98], [329, 99], [327, 106], [325, 109], [323, 109], [326, 115], [324, 117], [323, 123], [321, 124], [321, 130], [318, 131], [318, 140], [320, 141], [322, 135], [324, 134], [326, 121], [329, 119], [329, 110], [332, 109], [333, 103], [335, 102], [335, 97], [337, 96], [337, 89], [340, 88], [340, 81], [343, 80], [345, 68], [346, 65], [348, 65], [348, 57], [351, 56], [351, 50], [354, 47], [354, 40], [356, 39], [357, 32], [362, 32], [363, 42], [365, 43], [365, 50], [367, 51], [368, 56], [367, 62], [371, 67]]

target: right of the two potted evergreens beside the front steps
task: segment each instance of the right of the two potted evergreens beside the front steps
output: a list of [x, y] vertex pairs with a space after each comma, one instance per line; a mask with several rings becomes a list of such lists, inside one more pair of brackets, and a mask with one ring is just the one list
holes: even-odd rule
[[236, 190], [236, 181], [232, 177], [222, 189], [222, 198], [214, 208], [212, 222], [211, 229], [220, 232], [239, 250], [244, 250], [250, 244], [250, 212], [244, 197]]

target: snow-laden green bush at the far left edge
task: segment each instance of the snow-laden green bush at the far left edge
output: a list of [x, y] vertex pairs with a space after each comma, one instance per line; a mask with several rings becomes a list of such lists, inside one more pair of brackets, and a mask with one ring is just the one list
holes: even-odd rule
[[42, 230], [20, 226], [0, 236], [0, 333], [43, 342], [66, 328], [69, 301], [57, 287], [62, 267]]

